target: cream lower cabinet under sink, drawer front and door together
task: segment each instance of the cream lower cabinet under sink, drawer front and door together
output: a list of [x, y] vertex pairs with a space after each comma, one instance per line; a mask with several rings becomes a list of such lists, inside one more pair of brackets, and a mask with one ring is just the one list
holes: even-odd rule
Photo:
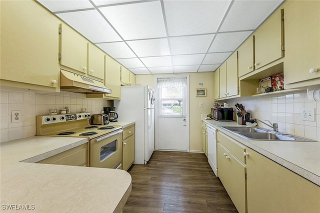
[[246, 212], [246, 166], [242, 162], [245, 159], [243, 156], [245, 147], [219, 131], [217, 141], [219, 179], [238, 212]]

